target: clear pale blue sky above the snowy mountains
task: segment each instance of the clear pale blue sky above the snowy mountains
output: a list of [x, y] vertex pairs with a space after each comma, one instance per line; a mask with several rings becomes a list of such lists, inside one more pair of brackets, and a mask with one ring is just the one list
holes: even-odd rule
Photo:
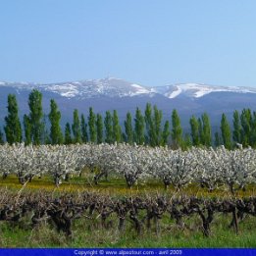
[[0, 0], [0, 80], [256, 86], [255, 0]]

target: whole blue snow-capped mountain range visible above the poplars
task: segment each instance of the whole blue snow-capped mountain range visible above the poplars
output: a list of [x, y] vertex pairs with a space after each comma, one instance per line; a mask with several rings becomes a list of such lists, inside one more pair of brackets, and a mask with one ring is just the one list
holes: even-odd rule
[[256, 110], [256, 87], [199, 83], [148, 87], [114, 77], [48, 84], [0, 81], [0, 124], [3, 124], [6, 115], [8, 94], [17, 95], [22, 116], [28, 112], [27, 98], [33, 88], [42, 92], [46, 114], [49, 111], [50, 99], [56, 100], [62, 112], [63, 122], [72, 121], [74, 109], [87, 115], [89, 107], [103, 115], [107, 110], [116, 109], [120, 119], [124, 120], [128, 111], [134, 113], [136, 107], [143, 111], [147, 102], [156, 104], [163, 110], [165, 119], [170, 119], [172, 110], [176, 108], [184, 120], [183, 123], [187, 123], [191, 115], [199, 116], [207, 112], [216, 126], [224, 112], [231, 120], [231, 114], [235, 109]]

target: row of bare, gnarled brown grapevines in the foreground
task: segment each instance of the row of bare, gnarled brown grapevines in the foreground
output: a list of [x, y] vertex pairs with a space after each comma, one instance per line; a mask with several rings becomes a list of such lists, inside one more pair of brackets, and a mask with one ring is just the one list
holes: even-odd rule
[[[211, 230], [226, 219], [226, 229], [238, 234], [239, 223], [254, 223], [256, 198], [207, 199], [188, 196], [110, 197], [82, 192], [53, 196], [49, 192], [17, 194], [1, 189], [0, 221], [23, 229], [39, 231], [50, 225], [72, 238], [75, 223], [83, 221], [83, 230], [116, 230], [120, 235], [133, 231], [141, 236], [162, 229], [200, 230], [208, 237]], [[190, 221], [189, 221], [190, 220]], [[191, 220], [197, 223], [191, 224]], [[252, 229], [255, 227], [251, 227]], [[241, 230], [242, 231], [242, 230]]]

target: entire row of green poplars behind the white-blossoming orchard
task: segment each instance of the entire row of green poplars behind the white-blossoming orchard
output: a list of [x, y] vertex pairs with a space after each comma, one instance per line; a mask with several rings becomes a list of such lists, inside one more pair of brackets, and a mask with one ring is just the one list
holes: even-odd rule
[[[222, 115], [219, 131], [212, 134], [209, 116], [204, 113], [200, 118], [192, 116], [189, 120], [190, 132], [183, 134], [177, 110], [172, 112], [172, 126], [169, 121], [163, 124], [163, 113], [157, 106], [147, 103], [144, 113], [136, 109], [134, 119], [128, 112], [124, 132], [120, 126], [116, 110], [107, 111], [103, 120], [89, 108], [89, 115], [79, 116], [74, 110], [73, 123], [67, 123], [63, 133], [60, 122], [61, 112], [57, 103], [50, 101], [50, 113], [46, 116], [42, 109], [42, 94], [34, 89], [28, 96], [29, 114], [24, 116], [23, 127], [19, 118], [16, 96], [8, 95], [8, 115], [5, 117], [5, 136], [10, 144], [25, 141], [26, 144], [71, 144], [71, 143], [114, 143], [148, 144], [150, 146], [171, 145], [173, 148], [190, 146], [225, 145], [231, 149], [239, 143], [256, 147], [256, 113], [250, 109], [233, 112], [232, 130], [225, 114]], [[47, 126], [49, 122], [49, 126]], [[134, 125], [133, 125], [134, 124]], [[49, 130], [48, 130], [49, 128]], [[0, 131], [0, 142], [4, 143]], [[214, 142], [213, 142], [214, 141]]]

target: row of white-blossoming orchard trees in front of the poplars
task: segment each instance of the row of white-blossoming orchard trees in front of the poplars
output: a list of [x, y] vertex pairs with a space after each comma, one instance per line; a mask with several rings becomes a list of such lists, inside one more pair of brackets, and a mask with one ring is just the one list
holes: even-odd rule
[[46, 175], [58, 186], [62, 179], [78, 176], [84, 168], [96, 171], [95, 183], [103, 177], [119, 176], [129, 187], [159, 179], [165, 187], [172, 185], [177, 190], [195, 183], [209, 191], [222, 186], [233, 193], [256, 183], [256, 150], [221, 146], [181, 151], [125, 143], [0, 146], [3, 178], [15, 174], [21, 183]]

